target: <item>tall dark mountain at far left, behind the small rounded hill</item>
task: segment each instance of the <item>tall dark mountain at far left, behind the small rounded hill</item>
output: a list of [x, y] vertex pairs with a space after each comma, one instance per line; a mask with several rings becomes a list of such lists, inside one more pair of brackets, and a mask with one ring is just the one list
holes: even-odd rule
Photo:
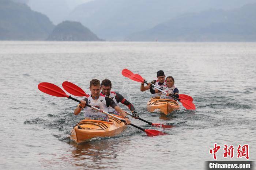
[[0, 40], [44, 40], [52, 22], [26, 4], [0, 0]]

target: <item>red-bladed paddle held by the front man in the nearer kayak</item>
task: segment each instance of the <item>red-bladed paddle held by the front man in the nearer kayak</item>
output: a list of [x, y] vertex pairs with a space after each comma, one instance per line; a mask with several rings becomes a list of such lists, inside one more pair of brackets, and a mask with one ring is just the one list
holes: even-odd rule
[[[58, 86], [56, 86], [56, 85], [54, 85], [54, 84], [52, 84], [52, 83], [41, 82], [41, 83], [38, 84], [38, 89], [39, 89], [41, 92], [44, 92], [44, 93], [46, 93], [46, 94], [49, 94], [49, 95], [52, 95], [52, 96], [56, 96], [56, 97], [67, 97], [67, 98], [70, 98], [70, 99], [72, 99], [72, 100], [77, 101], [78, 103], [80, 103], [79, 100], [77, 100], [76, 98], [73, 98], [73, 97], [71, 97], [71, 96], [68, 96], [61, 88], [59, 88]], [[92, 109], [95, 109], [95, 110], [97, 110], [97, 111], [99, 111], [99, 112], [101, 112], [101, 113], [104, 113], [104, 114], [106, 114], [106, 115], [108, 115], [108, 116], [112, 116], [112, 117], [114, 117], [114, 118], [116, 118], [116, 119], [118, 119], [118, 120], [120, 120], [120, 121], [125, 122], [125, 120], [121, 119], [120, 117], [113, 116], [113, 115], [111, 115], [111, 114], [109, 114], [109, 113], [107, 113], [107, 112], [104, 112], [104, 111], [102, 111], [102, 110], [100, 110], [100, 109], [98, 109], [98, 108], [95, 108], [95, 107], [93, 107], [93, 106], [91, 106], [91, 105], [89, 105], [89, 104], [86, 104], [86, 106], [88, 106], [88, 107], [90, 107], [90, 108], [92, 108]], [[138, 127], [138, 126], [136, 126], [136, 125], [134, 125], [134, 124], [130, 124], [130, 125], [133, 126], [133, 127], [138, 128], [138, 129], [140, 129], [140, 130], [142, 130], [143, 132], [146, 132], [146, 134], [147, 134], [148, 136], [166, 135], [166, 133], [161, 132], [161, 131], [152, 130], [152, 129], [143, 129], [143, 128]]]

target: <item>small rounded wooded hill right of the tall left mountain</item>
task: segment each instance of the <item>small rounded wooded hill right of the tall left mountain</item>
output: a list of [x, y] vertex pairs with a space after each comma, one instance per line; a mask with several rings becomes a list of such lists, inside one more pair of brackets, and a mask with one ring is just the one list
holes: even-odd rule
[[52, 41], [102, 41], [79, 22], [64, 21], [58, 24], [47, 40]]

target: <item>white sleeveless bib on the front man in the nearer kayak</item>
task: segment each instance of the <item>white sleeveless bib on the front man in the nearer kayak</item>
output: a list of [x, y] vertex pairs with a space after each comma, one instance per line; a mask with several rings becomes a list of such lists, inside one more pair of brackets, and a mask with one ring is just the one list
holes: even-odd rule
[[[87, 99], [88, 99], [88, 104], [90, 104], [91, 106], [101, 109], [104, 112], [108, 112], [105, 95], [101, 94], [97, 100], [93, 100], [91, 96], [87, 97]], [[84, 117], [88, 117], [93, 120], [109, 121], [108, 115], [105, 115], [104, 113], [101, 113], [90, 107], [84, 108]]]

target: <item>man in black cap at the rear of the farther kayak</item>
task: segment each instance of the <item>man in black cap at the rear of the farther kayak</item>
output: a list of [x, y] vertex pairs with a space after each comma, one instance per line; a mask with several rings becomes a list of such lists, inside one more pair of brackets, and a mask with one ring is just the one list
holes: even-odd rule
[[163, 72], [163, 70], [159, 70], [157, 72], [157, 80], [151, 81], [150, 83], [148, 83], [147, 86], [144, 86], [144, 82], [142, 82], [142, 84], [140, 85], [140, 91], [144, 92], [150, 89], [150, 93], [153, 94], [155, 97], [161, 96], [162, 92], [155, 93], [155, 90], [150, 88], [151, 84], [157, 85], [160, 89], [166, 88], [165, 73]]

